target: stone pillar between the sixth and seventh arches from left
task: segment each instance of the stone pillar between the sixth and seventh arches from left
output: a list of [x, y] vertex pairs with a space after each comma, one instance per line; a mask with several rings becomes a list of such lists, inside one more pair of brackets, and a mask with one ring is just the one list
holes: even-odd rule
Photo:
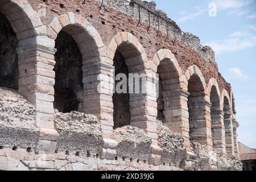
[[213, 150], [226, 153], [224, 112], [222, 110], [212, 110], [212, 140]]

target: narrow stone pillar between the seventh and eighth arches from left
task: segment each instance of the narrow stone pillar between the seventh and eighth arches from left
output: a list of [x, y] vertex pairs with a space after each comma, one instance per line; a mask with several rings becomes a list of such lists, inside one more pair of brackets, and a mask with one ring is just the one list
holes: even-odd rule
[[234, 155], [233, 122], [230, 115], [230, 112], [226, 112], [224, 115], [226, 152], [228, 155]]

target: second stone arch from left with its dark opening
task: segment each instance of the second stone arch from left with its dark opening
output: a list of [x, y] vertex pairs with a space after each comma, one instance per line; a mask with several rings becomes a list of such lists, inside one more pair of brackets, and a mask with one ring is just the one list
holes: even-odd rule
[[[85, 111], [85, 113], [90, 113], [90, 111], [86, 110], [88, 104], [85, 104], [84, 106], [84, 100], [87, 101], [90, 93], [87, 92], [87, 90], [91, 89], [90, 80], [88, 80], [88, 77], [91, 77], [93, 75], [91, 71], [91, 65], [102, 62], [102, 59], [100, 59], [100, 54], [102, 52], [102, 49], [104, 48], [104, 43], [101, 40], [100, 34], [98, 34], [97, 30], [92, 26], [92, 24], [90, 24], [81, 15], [71, 12], [54, 18], [52, 20], [52, 23], [49, 24], [49, 27], [47, 27], [47, 35], [53, 40], [59, 40], [59, 35], [62, 34], [63, 38], [65, 36], [67, 37], [67, 39], [69, 36], [72, 37], [72, 39], [70, 39], [70, 43], [73, 44], [73, 46], [67, 43], [66, 49], [70, 47], [70, 50], [72, 49], [71, 51], [75, 51], [76, 53], [71, 53], [69, 54], [69, 56], [81, 56], [76, 56], [79, 60], [76, 59], [76, 61], [72, 63], [72, 68], [74, 68], [74, 71], [72, 71], [74, 72], [73, 75], [67, 73], [66, 75], [69, 75], [67, 76], [67, 79], [58, 80], [58, 82], [55, 83], [55, 89], [60, 87], [60, 89], [58, 89], [59, 91], [55, 92], [55, 95], [56, 93], [60, 95], [69, 95], [70, 97], [72, 97], [71, 105], [75, 103], [73, 105], [73, 109], [77, 111]], [[75, 42], [73, 42], [73, 40]], [[77, 49], [75, 49], [76, 46]], [[67, 52], [65, 53], [65, 55], [67, 55]], [[81, 57], [81, 59], [79, 57]], [[73, 58], [75, 59], [75, 57]], [[69, 67], [70, 65], [68, 64], [69, 63], [67, 63], [67, 70], [71, 70], [71, 68]], [[88, 70], [90, 70], [89, 73]], [[57, 73], [59, 72], [56, 72], [55, 80], [58, 77]], [[97, 75], [96, 73], [94, 74]], [[95, 75], [94, 77], [96, 77]], [[73, 76], [77, 78], [73, 78], [72, 80]], [[76, 82], [76, 85], [74, 85], [74, 82]], [[63, 92], [60, 92], [60, 90], [62, 90]], [[60, 98], [65, 97], [61, 96]]]

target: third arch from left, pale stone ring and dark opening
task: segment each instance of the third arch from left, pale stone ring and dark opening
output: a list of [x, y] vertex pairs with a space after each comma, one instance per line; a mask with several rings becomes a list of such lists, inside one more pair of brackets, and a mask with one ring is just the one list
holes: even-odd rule
[[143, 56], [141, 51], [143, 47], [128, 32], [119, 33], [113, 41], [117, 45], [112, 49], [115, 68], [115, 92], [112, 97], [113, 121], [114, 129], [117, 129], [126, 125], [136, 126], [137, 122], [148, 121], [145, 100], [147, 93], [143, 92], [146, 90], [144, 87], [146, 86], [144, 68], [146, 54]]

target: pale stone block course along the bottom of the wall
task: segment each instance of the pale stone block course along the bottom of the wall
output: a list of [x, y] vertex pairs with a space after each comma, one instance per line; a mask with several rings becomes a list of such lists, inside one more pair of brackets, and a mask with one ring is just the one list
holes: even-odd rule
[[[5, 154], [11, 154], [7, 157]], [[0, 170], [11, 171], [182, 171], [171, 166], [153, 166], [130, 160], [108, 160], [65, 154], [35, 154], [26, 150], [0, 150]]]

